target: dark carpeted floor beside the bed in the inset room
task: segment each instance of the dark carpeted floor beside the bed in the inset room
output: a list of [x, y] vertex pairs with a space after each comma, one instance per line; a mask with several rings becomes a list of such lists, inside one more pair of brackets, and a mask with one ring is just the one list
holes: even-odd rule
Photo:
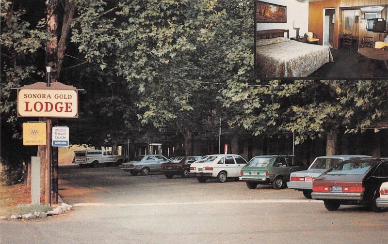
[[[368, 60], [361, 57], [356, 50], [335, 50], [330, 48], [334, 62], [326, 63], [308, 77], [329, 78], [367, 78], [372, 77], [368, 70]], [[361, 62], [360, 62], [361, 60]], [[388, 77], [388, 71], [381, 63], [377, 66], [374, 77]]]

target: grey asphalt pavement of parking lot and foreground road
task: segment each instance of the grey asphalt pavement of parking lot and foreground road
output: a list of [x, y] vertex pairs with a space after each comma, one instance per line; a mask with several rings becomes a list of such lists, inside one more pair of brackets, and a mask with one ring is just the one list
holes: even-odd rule
[[291, 189], [131, 176], [118, 167], [62, 166], [59, 178], [59, 194], [73, 211], [2, 223], [1, 243], [388, 242], [388, 212], [329, 212]]

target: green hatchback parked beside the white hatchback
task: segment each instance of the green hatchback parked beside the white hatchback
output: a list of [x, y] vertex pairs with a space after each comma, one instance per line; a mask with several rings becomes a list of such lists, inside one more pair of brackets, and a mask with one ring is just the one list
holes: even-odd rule
[[274, 189], [286, 187], [291, 172], [307, 169], [307, 165], [292, 155], [255, 156], [242, 168], [239, 178], [249, 189], [258, 184], [272, 184]]

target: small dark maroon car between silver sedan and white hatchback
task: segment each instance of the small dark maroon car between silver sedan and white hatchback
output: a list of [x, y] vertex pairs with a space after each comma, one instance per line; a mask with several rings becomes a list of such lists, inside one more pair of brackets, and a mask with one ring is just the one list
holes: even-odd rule
[[162, 164], [162, 173], [168, 178], [174, 175], [181, 175], [182, 178], [189, 177], [190, 165], [202, 156], [172, 157]]

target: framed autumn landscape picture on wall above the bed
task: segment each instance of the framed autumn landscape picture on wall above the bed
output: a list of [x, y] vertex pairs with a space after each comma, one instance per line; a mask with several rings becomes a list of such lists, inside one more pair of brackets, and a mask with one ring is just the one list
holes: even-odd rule
[[274, 3], [257, 1], [257, 23], [287, 23], [287, 7]]

